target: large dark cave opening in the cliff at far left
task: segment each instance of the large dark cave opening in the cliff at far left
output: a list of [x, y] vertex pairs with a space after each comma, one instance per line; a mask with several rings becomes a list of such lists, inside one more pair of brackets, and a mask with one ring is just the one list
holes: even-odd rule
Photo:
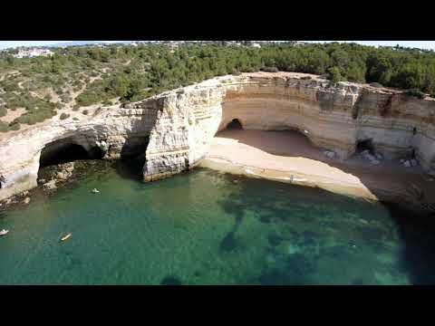
[[66, 139], [56, 140], [45, 145], [39, 159], [40, 168], [73, 162], [80, 159], [101, 159], [102, 149], [98, 146], [89, 151], [81, 145], [70, 142]]

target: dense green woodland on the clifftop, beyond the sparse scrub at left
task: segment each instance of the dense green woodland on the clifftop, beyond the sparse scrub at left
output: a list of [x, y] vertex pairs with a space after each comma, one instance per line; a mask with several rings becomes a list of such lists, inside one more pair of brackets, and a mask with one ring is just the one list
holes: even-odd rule
[[[324, 75], [333, 82], [376, 82], [387, 87], [417, 89], [435, 95], [435, 53], [415, 49], [381, 48], [354, 43], [245, 46], [189, 45], [76, 50], [83, 57], [100, 60], [131, 58], [102, 82], [79, 97], [83, 105], [120, 97], [142, 98], [193, 82], [238, 72], [306, 72]], [[105, 53], [105, 54], [102, 54]], [[109, 59], [109, 62], [111, 59]]]

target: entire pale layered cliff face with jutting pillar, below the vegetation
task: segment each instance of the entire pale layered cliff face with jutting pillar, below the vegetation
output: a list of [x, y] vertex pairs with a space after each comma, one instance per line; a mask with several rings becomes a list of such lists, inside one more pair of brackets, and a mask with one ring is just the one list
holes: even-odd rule
[[209, 142], [234, 119], [244, 129], [299, 129], [315, 146], [348, 158], [372, 139], [384, 158], [415, 150], [435, 171], [435, 101], [400, 91], [297, 73], [244, 73], [167, 91], [128, 108], [112, 106], [81, 121], [52, 121], [0, 143], [0, 200], [36, 186], [41, 151], [57, 141], [98, 148], [102, 158], [145, 152], [144, 180], [195, 167]]

